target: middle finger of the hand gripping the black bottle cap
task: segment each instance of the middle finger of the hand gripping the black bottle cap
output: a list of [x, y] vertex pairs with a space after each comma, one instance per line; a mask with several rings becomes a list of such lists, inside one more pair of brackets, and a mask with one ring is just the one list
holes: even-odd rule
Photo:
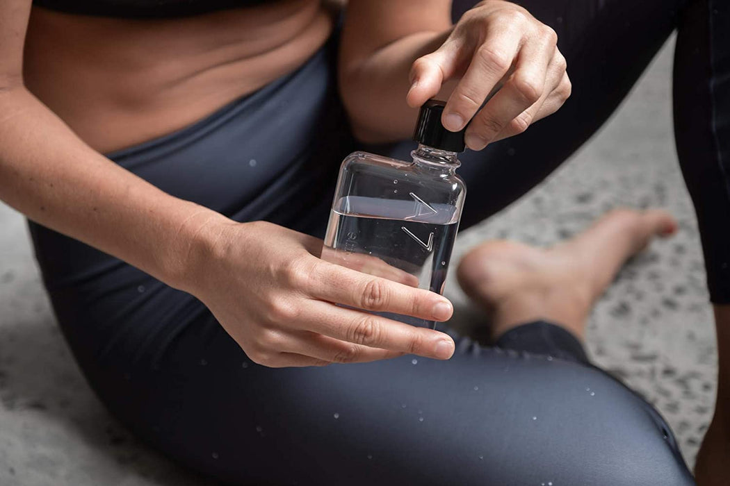
[[523, 44], [515, 71], [466, 130], [464, 140], [470, 149], [483, 149], [513, 120], [515, 130], [524, 131], [529, 127], [532, 120], [525, 111], [538, 103], [545, 93], [548, 67], [556, 52], [554, 40], [542, 36]]

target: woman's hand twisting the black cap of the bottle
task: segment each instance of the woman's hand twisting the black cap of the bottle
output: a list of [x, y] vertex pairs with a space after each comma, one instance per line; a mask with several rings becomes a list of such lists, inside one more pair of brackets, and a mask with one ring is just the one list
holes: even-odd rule
[[557, 39], [526, 9], [483, 1], [461, 17], [438, 50], [415, 60], [408, 104], [418, 107], [448, 79], [461, 78], [444, 109], [445, 128], [461, 130], [473, 117], [465, 136], [473, 150], [521, 133], [557, 111], [570, 95]]

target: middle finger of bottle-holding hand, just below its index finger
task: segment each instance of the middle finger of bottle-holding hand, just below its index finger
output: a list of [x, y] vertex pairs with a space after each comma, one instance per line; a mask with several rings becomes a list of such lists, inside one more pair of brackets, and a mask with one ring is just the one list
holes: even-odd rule
[[[307, 322], [311, 327], [309, 330], [333, 337], [335, 340], [428, 358], [447, 359], [453, 355], [453, 339], [448, 334], [433, 329], [410, 326], [380, 315], [347, 309], [328, 302], [312, 301], [308, 307]], [[350, 346], [344, 350], [344, 355], [337, 356], [340, 361], [342, 358], [378, 356], [374, 352], [361, 355], [359, 353], [364, 353], [364, 350], [358, 347]], [[388, 355], [388, 357], [393, 356]]]

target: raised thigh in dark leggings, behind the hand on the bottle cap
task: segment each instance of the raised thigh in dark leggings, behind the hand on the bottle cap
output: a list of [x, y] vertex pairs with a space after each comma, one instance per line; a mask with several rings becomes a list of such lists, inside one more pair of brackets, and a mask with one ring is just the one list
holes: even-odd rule
[[[461, 15], [473, 1], [455, 1]], [[491, 216], [539, 184], [596, 133], [675, 29], [684, 0], [518, 1], [558, 33], [573, 90], [564, 106], [525, 133], [461, 154], [471, 188], [461, 227]], [[391, 155], [407, 157], [410, 143]], [[477, 190], [473, 190], [477, 189]]]

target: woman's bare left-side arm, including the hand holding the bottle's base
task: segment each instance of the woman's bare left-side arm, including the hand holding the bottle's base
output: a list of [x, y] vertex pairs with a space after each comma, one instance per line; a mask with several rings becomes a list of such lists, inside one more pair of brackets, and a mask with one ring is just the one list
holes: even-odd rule
[[445, 297], [323, 262], [321, 240], [233, 222], [84, 144], [23, 87], [29, 10], [30, 0], [0, 2], [0, 200], [195, 295], [259, 364], [452, 355], [447, 334], [356, 310], [445, 321]]

